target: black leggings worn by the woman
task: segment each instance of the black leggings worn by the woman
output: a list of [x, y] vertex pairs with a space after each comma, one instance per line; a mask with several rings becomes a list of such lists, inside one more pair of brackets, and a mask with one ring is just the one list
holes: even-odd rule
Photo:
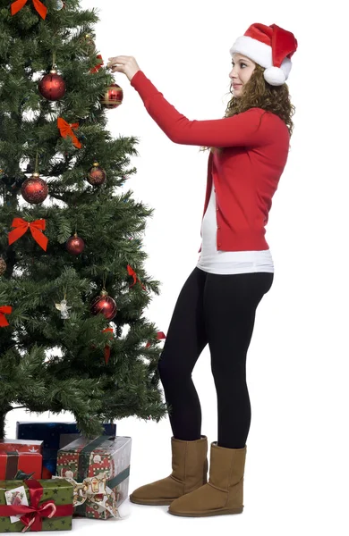
[[257, 306], [273, 279], [273, 272], [220, 275], [195, 267], [185, 281], [158, 362], [175, 439], [200, 439], [201, 407], [192, 370], [209, 343], [217, 390], [217, 444], [245, 446], [251, 424], [247, 350]]

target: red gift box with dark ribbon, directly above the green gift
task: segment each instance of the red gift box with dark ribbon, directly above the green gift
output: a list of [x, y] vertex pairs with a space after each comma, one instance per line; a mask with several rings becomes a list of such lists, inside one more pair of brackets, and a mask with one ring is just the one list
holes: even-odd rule
[[39, 480], [41, 471], [41, 454], [0, 450], [0, 480]]

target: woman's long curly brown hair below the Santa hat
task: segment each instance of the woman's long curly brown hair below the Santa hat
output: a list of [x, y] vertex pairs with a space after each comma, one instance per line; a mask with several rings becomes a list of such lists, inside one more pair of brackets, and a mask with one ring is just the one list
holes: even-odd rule
[[[250, 108], [262, 108], [266, 112], [276, 113], [283, 121], [285, 121], [291, 138], [294, 131], [294, 123], [291, 118], [294, 115], [295, 106], [291, 103], [288, 86], [287, 84], [282, 84], [281, 86], [272, 86], [271, 84], [268, 84], [263, 76], [264, 71], [264, 67], [261, 67], [259, 63], [256, 63], [250, 80], [243, 88], [242, 96], [239, 96], [238, 98], [235, 98], [234, 96], [232, 97], [226, 106], [226, 114], [224, 117], [231, 117], [235, 113], [246, 112]], [[230, 86], [231, 94], [233, 94], [232, 88], [233, 84]], [[223, 148], [224, 147], [200, 147], [200, 151], [210, 149], [212, 152], [215, 150], [221, 152]]]

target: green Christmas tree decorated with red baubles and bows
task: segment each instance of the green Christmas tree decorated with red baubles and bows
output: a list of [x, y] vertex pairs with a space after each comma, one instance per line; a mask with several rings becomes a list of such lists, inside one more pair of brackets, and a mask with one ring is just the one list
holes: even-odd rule
[[0, 437], [15, 407], [72, 412], [90, 436], [167, 412], [142, 314], [153, 209], [121, 191], [139, 140], [106, 129], [123, 91], [97, 22], [79, 0], [0, 0]]

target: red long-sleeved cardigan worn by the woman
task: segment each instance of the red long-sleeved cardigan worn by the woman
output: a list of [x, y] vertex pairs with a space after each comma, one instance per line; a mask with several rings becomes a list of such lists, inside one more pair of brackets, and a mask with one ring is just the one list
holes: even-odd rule
[[174, 143], [225, 147], [221, 155], [209, 153], [202, 214], [203, 218], [213, 180], [217, 249], [268, 249], [265, 226], [290, 143], [285, 122], [261, 108], [250, 108], [223, 119], [190, 121], [166, 101], [143, 71], [136, 72], [131, 85], [140, 94], [149, 115]]

